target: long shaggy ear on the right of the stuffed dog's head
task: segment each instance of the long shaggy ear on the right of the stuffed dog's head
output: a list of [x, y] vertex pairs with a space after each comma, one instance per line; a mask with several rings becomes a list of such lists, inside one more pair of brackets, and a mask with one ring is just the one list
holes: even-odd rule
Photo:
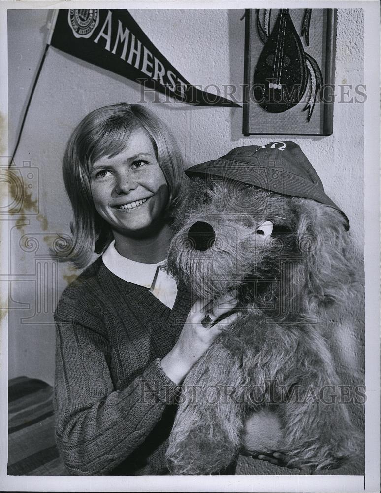
[[302, 257], [303, 304], [308, 310], [346, 300], [355, 278], [349, 234], [336, 209], [310, 199], [293, 199]]

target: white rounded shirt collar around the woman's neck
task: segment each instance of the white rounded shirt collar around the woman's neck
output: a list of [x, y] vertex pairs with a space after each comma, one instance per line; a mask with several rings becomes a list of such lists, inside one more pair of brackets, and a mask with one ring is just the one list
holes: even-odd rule
[[152, 286], [158, 266], [165, 264], [165, 260], [157, 264], [143, 264], [123, 257], [115, 248], [115, 240], [104, 251], [102, 260], [107, 269], [115, 276], [147, 288]]

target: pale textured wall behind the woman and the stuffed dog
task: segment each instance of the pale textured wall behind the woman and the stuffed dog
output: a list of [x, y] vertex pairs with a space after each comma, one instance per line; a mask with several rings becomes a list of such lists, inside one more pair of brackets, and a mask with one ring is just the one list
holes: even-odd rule
[[[133, 10], [132, 15], [157, 48], [191, 83], [243, 83], [244, 21], [235, 10]], [[47, 33], [49, 12], [8, 12], [9, 36], [9, 148], [13, 149], [22, 110]], [[336, 84], [363, 83], [362, 11], [339, 10]], [[339, 92], [339, 88], [337, 88]], [[237, 93], [237, 95], [241, 93]], [[54, 326], [51, 313], [33, 316], [36, 274], [34, 262], [46, 254], [47, 233], [68, 232], [71, 210], [64, 192], [61, 159], [65, 143], [79, 120], [89, 111], [108, 104], [138, 102], [137, 84], [50, 48], [33, 97], [17, 166], [31, 161], [40, 173], [39, 216], [26, 215], [22, 228], [13, 224], [11, 234], [11, 284], [14, 308], [9, 313], [9, 378], [28, 375], [53, 382]], [[188, 165], [221, 156], [239, 145], [279, 140], [275, 136], [242, 136], [242, 109], [196, 108], [179, 103], [150, 104], [172, 128]], [[287, 137], [305, 151], [321, 177], [326, 193], [346, 212], [362, 270], [363, 256], [363, 105], [337, 103], [334, 132], [330, 137]], [[28, 210], [26, 210], [28, 212]], [[17, 216], [15, 216], [17, 218]], [[47, 220], [47, 223], [45, 221]], [[38, 239], [38, 251], [22, 251], [21, 234]], [[41, 257], [42, 258], [42, 257]], [[29, 274], [29, 277], [21, 275]], [[59, 266], [61, 292], [73, 272]], [[17, 276], [20, 280], [17, 281]], [[26, 304], [30, 304], [30, 307]], [[339, 331], [338, 361], [343, 371], [363, 365], [363, 303], [351, 306], [349, 330]], [[26, 317], [32, 317], [25, 320]], [[20, 321], [21, 318], [24, 320]], [[26, 321], [29, 323], [26, 323]], [[242, 470], [252, 471], [253, 462]], [[245, 469], [246, 467], [246, 469]], [[266, 467], [261, 469], [266, 471]], [[278, 470], [278, 473], [283, 471]]]

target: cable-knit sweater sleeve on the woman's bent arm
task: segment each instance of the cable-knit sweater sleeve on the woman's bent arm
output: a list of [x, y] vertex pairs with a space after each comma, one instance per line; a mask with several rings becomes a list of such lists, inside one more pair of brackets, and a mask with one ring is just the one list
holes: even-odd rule
[[55, 314], [55, 436], [75, 475], [107, 474], [120, 464], [159, 422], [177, 389], [156, 359], [126, 388], [114, 390], [108, 339], [88, 320]]

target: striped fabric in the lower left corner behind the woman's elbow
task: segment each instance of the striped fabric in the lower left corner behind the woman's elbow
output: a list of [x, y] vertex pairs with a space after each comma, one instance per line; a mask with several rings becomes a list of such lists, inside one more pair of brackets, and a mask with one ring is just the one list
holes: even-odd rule
[[8, 474], [68, 473], [54, 440], [53, 388], [42, 380], [8, 381]]

